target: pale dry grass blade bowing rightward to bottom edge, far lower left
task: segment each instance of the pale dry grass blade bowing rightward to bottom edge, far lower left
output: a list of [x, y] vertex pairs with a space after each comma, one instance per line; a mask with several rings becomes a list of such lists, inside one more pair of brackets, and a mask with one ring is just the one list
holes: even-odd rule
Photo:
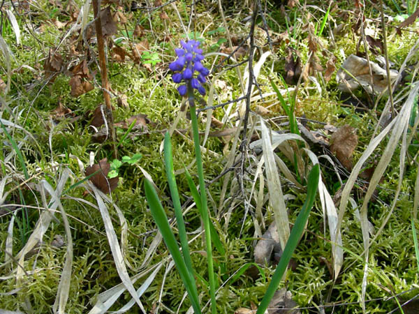
[[[66, 211], [64, 211], [64, 207], [61, 204], [59, 195], [57, 195], [54, 188], [52, 188], [52, 186], [50, 186], [50, 184], [47, 181], [42, 180], [41, 186], [45, 188], [45, 190], [51, 195], [51, 201], [53, 201], [54, 204], [58, 205], [59, 211], [61, 212], [61, 217], [63, 218], [64, 230], [66, 230], [66, 262], [64, 262], [63, 271], [61, 273], [61, 279], [58, 285], [57, 297], [55, 299], [54, 306], [52, 307], [52, 311], [54, 311], [54, 313], [64, 314], [68, 300], [68, 293], [70, 292], [71, 265], [73, 264], [73, 239], [71, 239], [70, 224], [68, 223]], [[44, 193], [44, 191], [42, 190], [41, 193]], [[47, 207], [47, 204], [44, 204], [44, 206]]]

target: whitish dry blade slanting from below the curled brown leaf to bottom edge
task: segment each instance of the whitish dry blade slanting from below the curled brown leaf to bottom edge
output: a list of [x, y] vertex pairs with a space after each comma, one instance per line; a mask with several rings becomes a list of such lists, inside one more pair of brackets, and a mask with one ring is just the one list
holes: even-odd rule
[[137, 302], [138, 306], [140, 306], [141, 311], [143, 313], [146, 313], [145, 308], [142, 306], [142, 303], [138, 298], [137, 293], [135, 292], [135, 288], [133, 286], [131, 278], [129, 278], [128, 271], [126, 270], [124, 256], [122, 255], [121, 247], [119, 246], [117, 239], [117, 234], [115, 233], [115, 229], [112, 225], [112, 220], [110, 219], [108, 207], [106, 207], [105, 203], [103, 202], [103, 193], [101, 193], [101, 191], [98, 190], [98, 188], [96, 188], [96, 186], [94, 186], [93, 184], [89, 184], [89, 186], [94, 191], [99, 211], [101, 211], [103, 224], [105, 225], [106, 236], [108, 237], [110, 250], [112, 251], [112, 257], [115, 261], [115, 266], [117, 268], [119, 278], [121, 278], [128, 292], [134, 298], [135, 302]]

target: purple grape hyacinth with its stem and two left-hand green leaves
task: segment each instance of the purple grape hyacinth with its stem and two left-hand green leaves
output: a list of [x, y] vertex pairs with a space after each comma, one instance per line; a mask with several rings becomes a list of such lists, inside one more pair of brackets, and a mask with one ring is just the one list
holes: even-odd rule
[[[214, 276], [214, 261], [212, 259], [212, 232], [214, 227], [211, 227], [210, 214], [208, 213], [207, 207], [207, 195], [205, 190], [204, 171], [203, 171], [203, 160], [200, 152], [200, 140], [198, 131], [198, 121], [196, 119], [196, 105], [194, 90], [198, 90], [201, 95], [205, 95], [205, 88], [202, 86], [206, 81], [206, 76], [210, 71], [205, 68], [201, 61], [204, 59], [203, 50], [198, 47], [199, 41], [189, 40], [184, 42], [182, 40], [182, 48], [176, 49], [177, 59], [170, 63], [170, 70], [175, 72], [172, 75], [172, 80], [175, 83], [184, 83], [177, 88], [179, 94], [187, 96], [189, 98], [189, 109], [191, 112], [192, 131], [193, 131], [193, 143], [195, 147], [196, 165], [198, 168], [198, 179], [200, 187], [200, 201], [197, 202], [197, 207], [200, 210], [200, 215], [203, 220], [205, 230], [205, 247], [207, 253], [207, 267], [208, 276], [210, 282], [210, 297], [211, 297], [211, 312], [216, 313], [216, 281]], [[194, 73], [198, 73], [197, 77], [194, 77]], [[168, 184], [170, 188], [170, 195], [172, 197], [173, 208], [175, 210], [175, 216], [177, 221], [177, 228], [179, 230], [179, 240], [182, 246], [182, 252], [177, 244], [175, 235], [173, 234], [166, 212], [161, 205], [159, 197], [154, 190], [154, 187], [150, 181], [145, 179], [145, 195], [147, 202], [149, 203], [150, 211], [156, 222], [157, 227], [163, 236], [163, 239], [168, 247], [170, 255], [176, 264], [177, 271], [182, 278], [186, 292], [188, 293], [189, 299], [195, 313], [201, 313], [200, 301], [198, 297], [198, 290], [196, 288], [196, 282], [194, 278], [195, 272], [193, 271], [191, 257], [189, 254], [189, 246], [186, 235], [186, 228], [182, 215], [182, 209], [180, 206], [179, 192], [177, 190], [177, 184], [175, 179], [175, 173], [173, 170], [173, 159], [172, 159], [172, 147], [170, 144], [170, 134], [166, 133], [164, 140], [164, 161], [166, 166], [166, 175], [168, 177]], [[189, 178], [191, 181], [191, 178]], [[189, 182], [191, 185], [191, 182]], [[194, 186], [194, 184], [192, 184]], [[198, 189], [192, 188], [193, 194], [196, 195]], [[199, 203], [199, 204], [198, 204]]]

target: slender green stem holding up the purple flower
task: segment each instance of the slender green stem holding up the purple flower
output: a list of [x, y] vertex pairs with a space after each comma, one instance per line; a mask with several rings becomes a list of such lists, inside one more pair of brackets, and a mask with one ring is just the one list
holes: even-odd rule
[[188, 98], [189, 98], [189, 110], [191, 112], [191, 121], [192, 121], [193, 144], [195, 146], [196, 167], [198, 168], [198, 181], [199, 181], [201, 206], [202, 206], [202, 214], [203, 214], [203, 222], [204, 222], [204, 230], [205, 230], [205, 244], [207, 246], [208, 276], [210, 277], [211, 312], [212, 314], [215, 314], [216, 313], [215, 278], [214, 278], [214, 265], [212, 264], [210, 216], [208, 214], [208, 207], [207, 207], [207, 193], [205, 191], [203, 159], [202, 159], [201, 151], [200, 151], [198, 121], [196, 119], [195, 97], [193, 96], [193, 88], [191, 86], [191, 82], [189, 82], [188, 84]]

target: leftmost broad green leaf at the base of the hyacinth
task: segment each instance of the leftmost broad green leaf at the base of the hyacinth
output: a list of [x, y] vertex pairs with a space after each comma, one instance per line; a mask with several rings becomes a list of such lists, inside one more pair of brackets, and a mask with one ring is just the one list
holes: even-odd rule
[[168, 247], [170, 255], [172, 255], [173, 260], [175, 261], [177, 271], [179, 271], [180, 278], [185, 285], [186, 292], [188, 292], [189, 299], [191, 299], [191, 304], [195, 313], [200, 312], [200, 305], [198, 294], [194, 294], [193, 292], [193, 283], [191, 283], [191, 276], [189, 275], [189, 271], [186, 268], [185, 261], [180, 253], [179, 246], [177, 246], [177, 242], [175, 239], [175, 235], [170, 228], [168, 217], [161, 205], [159, 200], [159, 196], [157, 196], [156, 190], [152, 186], [152, 183], [145, 179], [145, 197], [147, 198], [147, 202], [149, 204], [150, 211], [156, 222], [157, 227], [163, 236], [163, 239]]

